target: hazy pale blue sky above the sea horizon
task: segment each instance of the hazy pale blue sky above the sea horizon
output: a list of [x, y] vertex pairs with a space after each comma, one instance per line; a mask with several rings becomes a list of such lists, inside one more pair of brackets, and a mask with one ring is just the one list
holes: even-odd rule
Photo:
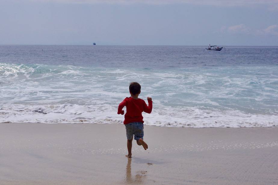
[[278, 45], [278, 0], [0, 3], [0, 44]]

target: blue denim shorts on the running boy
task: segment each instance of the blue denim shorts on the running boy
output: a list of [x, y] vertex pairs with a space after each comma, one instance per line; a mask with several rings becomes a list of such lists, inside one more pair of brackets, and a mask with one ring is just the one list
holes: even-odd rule
[[143, 139], [144, 136], [144, 125], [142, 122], [132, 122], [125, 124], [126, 137], [128, 140], [131, 140], [134, 134], [134, 139], [138, 140]]

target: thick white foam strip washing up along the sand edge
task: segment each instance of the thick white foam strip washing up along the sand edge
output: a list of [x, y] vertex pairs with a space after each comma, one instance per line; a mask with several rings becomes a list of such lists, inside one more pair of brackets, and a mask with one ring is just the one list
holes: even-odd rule
[[[254, 115], [240, 111], [171, 108], [154, 103], [151, 114], [143, 113], [146, 125], [162, 127], [277, 127], [277, 115]], [[99, 123], [122, 124], [117, 106], [80, 106], [72, 104], [53, 106], [6, 105], [0, 110], [0, 122], [15, 123]]]

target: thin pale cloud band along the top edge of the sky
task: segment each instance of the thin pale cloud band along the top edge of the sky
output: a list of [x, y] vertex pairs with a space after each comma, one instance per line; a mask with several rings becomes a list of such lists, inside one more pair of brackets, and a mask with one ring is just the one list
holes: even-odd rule
[[269, 5], [277, 7], [277, 0], [29, 0], [33, 2], [57, 2], [57, 3], [104, 3], [104, 4], [199, 4], [199, 5], [216, 5], [216, 6], [250, 6], [250, 5]]

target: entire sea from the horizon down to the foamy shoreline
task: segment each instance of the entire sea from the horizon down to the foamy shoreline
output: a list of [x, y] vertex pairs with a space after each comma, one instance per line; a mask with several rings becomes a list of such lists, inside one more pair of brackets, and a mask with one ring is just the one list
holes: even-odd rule
[[0, 122], [122, 124], [130, 82], [146, 125], [277, 127], [278, 47], [0, 46]]

